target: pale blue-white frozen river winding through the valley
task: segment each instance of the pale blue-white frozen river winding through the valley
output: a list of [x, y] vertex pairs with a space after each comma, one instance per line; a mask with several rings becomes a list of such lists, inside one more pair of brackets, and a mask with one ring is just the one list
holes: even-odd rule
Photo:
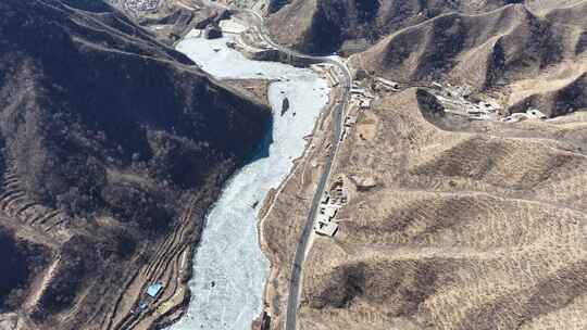
[[[267, 139], [268, 154], [265, 151], [235, 174], [210, 210], [193, 259], [189, 309], [173, 330], [250, 330], [261, 312], [268, 275], [268, 262], [258, 242], [259, 207], [251, 205], [262, 202], [286, 178], [292, 160], [303, 153], [303, 137], [312, 132], [328, 101], [327, 82], [314, 72], [247, 60], [226, 47], [229, 40], [190, 34], [176, 48], [217, 78], [279, 79], [268, 92], [274, 110], [272, 139]], [[286, 97], [290, 107], [280, 116]]]

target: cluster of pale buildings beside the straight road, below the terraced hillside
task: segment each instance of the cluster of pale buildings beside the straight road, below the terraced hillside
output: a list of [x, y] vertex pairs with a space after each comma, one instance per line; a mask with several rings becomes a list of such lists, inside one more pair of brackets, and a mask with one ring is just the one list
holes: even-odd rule
[[333, 189], [324, 192], [320, 202], [319, 212], [314, 224], [314, 231], [317, 234], [334, 237], [338, 231], [338, 224], [335, 220], [336, 214], [340, 207], [347, 204], [348, 192], [342, 178], [339, 178]]

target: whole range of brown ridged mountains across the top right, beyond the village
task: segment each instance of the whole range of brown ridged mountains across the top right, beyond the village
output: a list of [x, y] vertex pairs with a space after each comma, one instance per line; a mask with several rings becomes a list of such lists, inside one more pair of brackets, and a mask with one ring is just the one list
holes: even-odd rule
[[270, 3], [276, 40], [355, 53], [352, 66], [375, 76], [466, 84], [499, 96], [510, 112], [557, 116], [587, 106], [585, 0]]

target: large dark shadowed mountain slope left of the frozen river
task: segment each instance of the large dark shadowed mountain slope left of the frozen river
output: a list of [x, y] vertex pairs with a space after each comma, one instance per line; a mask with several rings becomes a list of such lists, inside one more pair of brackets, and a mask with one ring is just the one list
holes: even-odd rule
[[25, 328], [107, 327], [167, 237], [193, 244], [268, 125], [265, 105], [98, 3], [0, 3], [0, 227], [30, 275], [0, 312]]

